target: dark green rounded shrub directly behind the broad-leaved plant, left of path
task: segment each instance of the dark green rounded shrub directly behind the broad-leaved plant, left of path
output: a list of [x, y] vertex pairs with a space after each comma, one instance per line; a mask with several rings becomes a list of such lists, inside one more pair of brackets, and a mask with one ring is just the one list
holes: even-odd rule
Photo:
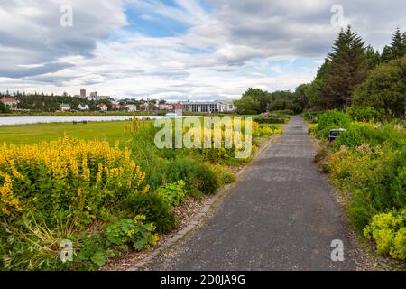
[[167, 233], [177, 227], [176, 215], [171, 211], [171, 206], [156, 192], [137, 193], [128, 197], [125, 209], [132, 217], [144, 215], [148, 221], [154, 222], [159, 233]]

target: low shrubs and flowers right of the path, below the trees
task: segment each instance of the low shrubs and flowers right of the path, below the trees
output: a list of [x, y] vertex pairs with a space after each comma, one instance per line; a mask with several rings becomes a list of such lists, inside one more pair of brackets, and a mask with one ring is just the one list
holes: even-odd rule
[[[369, 119], [360, 115], [365, 112]], [[379, 121], [374, 108], [318, 113], [310, 132], [321, 141], [316, 162], [343, 191], [354, 228], [374, 240], [378, 253], [406, 260], [406, 131], [401, 120]], [[326, 136], [342, 127], [335, 142]]]

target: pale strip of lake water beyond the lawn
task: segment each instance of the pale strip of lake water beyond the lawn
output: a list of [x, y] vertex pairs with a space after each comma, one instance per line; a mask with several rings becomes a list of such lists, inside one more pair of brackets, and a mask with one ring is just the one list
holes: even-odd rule
[[[182, 116], [136, 116], [138, 119], [150, 118], [177, 118]], [[0, 126], [5, 125], [26, 125], [26, 124], [42, 124], [42, 123], [69, 123], [73, 121], [117, 121], [130, 120], [132, 116], [13, 116], [0, 117]]]

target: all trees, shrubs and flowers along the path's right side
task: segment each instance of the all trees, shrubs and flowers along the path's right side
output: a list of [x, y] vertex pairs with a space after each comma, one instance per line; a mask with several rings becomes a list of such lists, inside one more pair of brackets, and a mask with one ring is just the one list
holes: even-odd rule
[[[406, 33], [397, 29], [379, 53], [348, 27], [316, 78], [296, 90], [321, 142], [315, 161], [343, 191], [355, 230], [405, 261]], [[346, 131], [329, 143], [333, 128]]]

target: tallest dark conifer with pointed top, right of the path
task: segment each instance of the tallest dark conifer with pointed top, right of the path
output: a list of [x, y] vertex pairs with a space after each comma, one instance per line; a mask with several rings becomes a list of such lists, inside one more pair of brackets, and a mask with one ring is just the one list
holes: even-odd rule
[[338, 34], [332, 50], [324, 91], [326, 106], [343, 109], [350, 105], [351, 95], [367, 74], [364, 41], [348, 26]]

